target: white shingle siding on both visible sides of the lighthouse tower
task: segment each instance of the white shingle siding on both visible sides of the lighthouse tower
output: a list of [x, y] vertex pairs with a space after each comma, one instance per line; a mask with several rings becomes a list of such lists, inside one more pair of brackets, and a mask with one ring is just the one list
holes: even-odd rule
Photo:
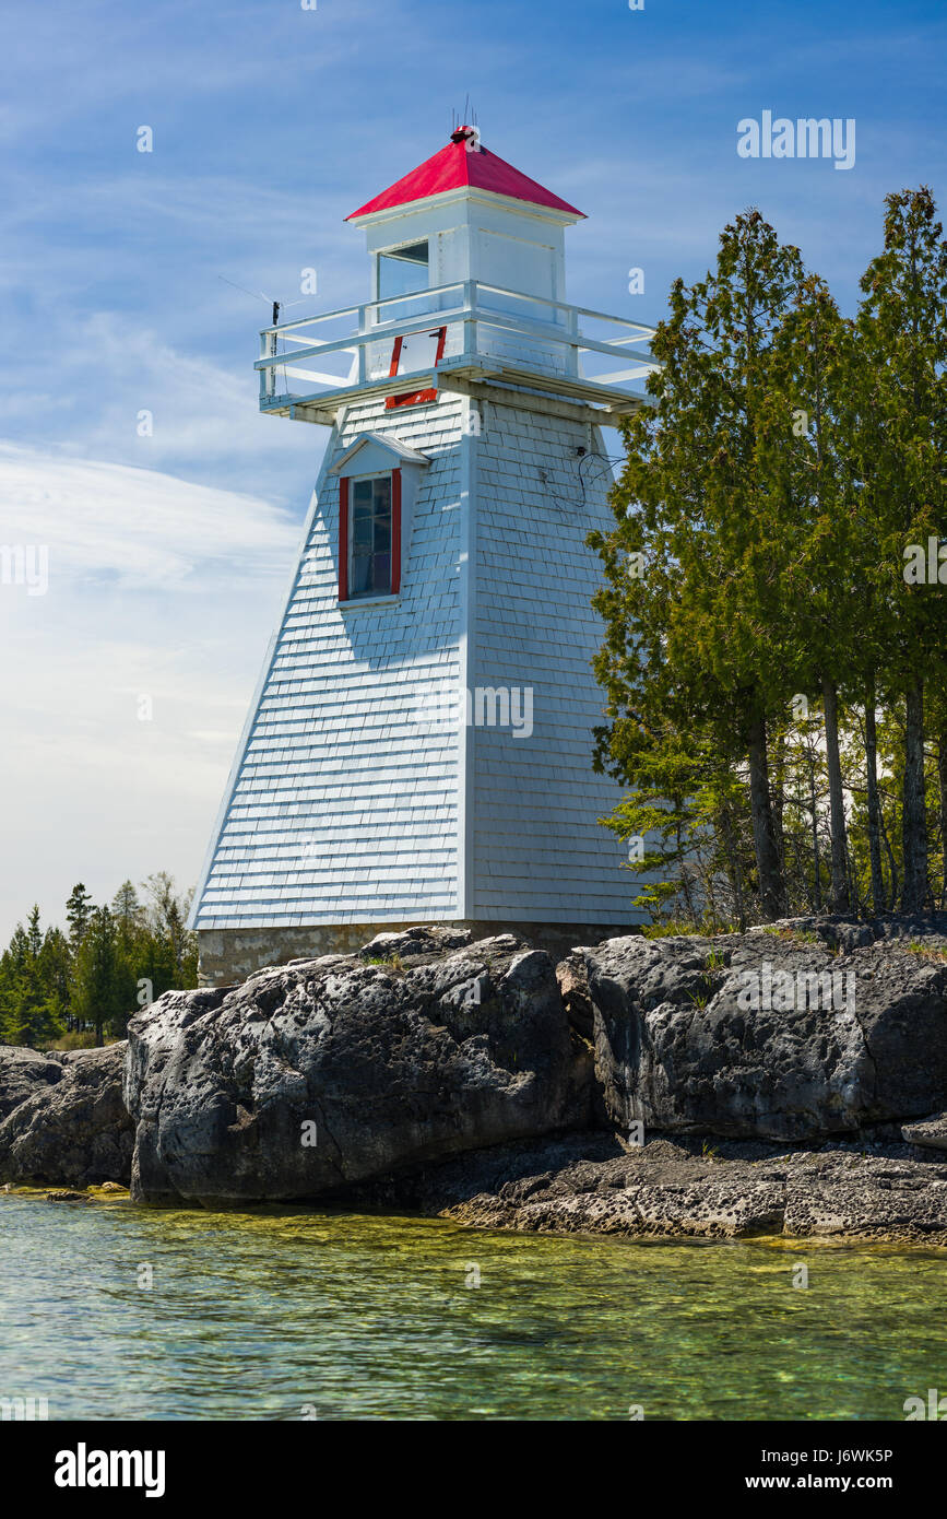
[[[332, 433], [299, 570], [235, 766], [194, 927], [507, 919], [627, 924], [631, 876], [599, 826], [601, 693], [589, 598], [609, 526], [598, 430], [466, 399], [349, 407]], [[396, 605], [337, 605], [338, 482], [366, 431], [420, 450]], [[545, 472], [545, 480], [540, 477]], [[584, 494], [583, 494], [584, 478]], [[419, 720], [434, 690], [533, 690], [533, 735]]]

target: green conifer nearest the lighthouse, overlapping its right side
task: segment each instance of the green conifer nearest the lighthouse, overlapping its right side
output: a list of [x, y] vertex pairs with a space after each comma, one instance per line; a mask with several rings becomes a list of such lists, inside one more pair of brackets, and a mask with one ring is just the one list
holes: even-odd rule
[[612, 726], [599, 763], [637, 785], [637, 756], [653, 766], [656, 735], [671, 732], [745, 766], [766, 919], [786, 907], [766, 725], [798, 690], [800, 652], [779, 620], [782, 550], [759, 454], [772, 339], [801, 278], [798, 249], [750, 211], [724, 229], [715, 272], [675, 281], [651, 345], [656, 406], [624, 427], [616, 527], [589, 538], [606, 571], [595, 668]]

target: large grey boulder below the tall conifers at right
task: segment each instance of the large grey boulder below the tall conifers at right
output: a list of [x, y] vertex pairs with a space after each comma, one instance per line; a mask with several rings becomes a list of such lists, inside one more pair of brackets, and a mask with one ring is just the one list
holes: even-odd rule
[[947, 1103], [947, 958], [776, 930], [583, 951], [612, 1123], [809, 1141]]

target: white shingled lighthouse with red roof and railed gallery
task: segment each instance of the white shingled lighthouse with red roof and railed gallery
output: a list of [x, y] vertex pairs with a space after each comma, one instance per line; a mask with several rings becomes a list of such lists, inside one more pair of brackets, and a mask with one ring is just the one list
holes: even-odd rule
[[581, 216], [461, 126], [348, 217], [364, 302], [261, 334], [261, 409], [331, 431], [194, 893], [206, 983], [416, 924], [636, 921], [586, 535], [654, 362], [566, 302]]

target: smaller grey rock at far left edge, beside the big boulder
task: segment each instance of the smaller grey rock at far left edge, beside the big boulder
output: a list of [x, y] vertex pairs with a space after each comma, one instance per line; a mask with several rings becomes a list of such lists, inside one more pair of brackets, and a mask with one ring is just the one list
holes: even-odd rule
[[131, 1179], [134, 1132], [121, 1097], [124, 1044], [82, 1059], [0, 1123], [0, 1176], [29, 1185], [90, 1186]]

